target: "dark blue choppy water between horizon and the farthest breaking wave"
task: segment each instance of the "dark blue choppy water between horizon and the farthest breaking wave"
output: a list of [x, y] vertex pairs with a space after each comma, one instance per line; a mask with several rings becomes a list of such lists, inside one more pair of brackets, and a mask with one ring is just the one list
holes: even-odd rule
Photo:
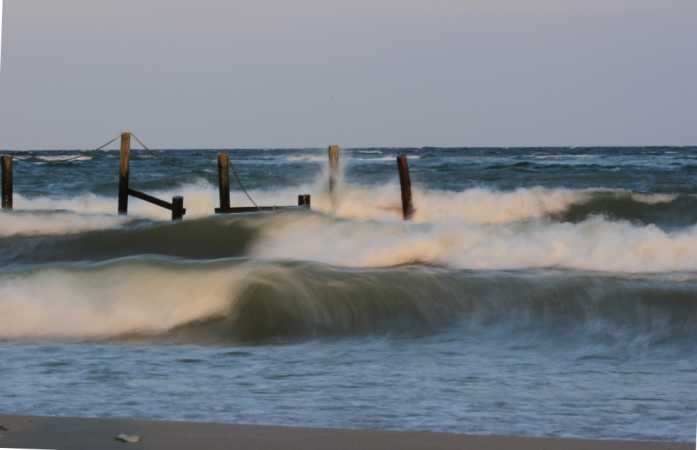
[[[253, 189], [273, 189], [314, 179], [326, 163], [326, 150], [232, 149], [233, 162]], [[158, 150], [132, 153], [132, 177], [145, 188], [175, 188], [201, 179], [215, 182], [213, 150]], [[117, 151], [85, 152], [85, 159], [50, 164], [78, 152], [18, 153], [17, 189], [26, 195], [94, 192], [113, 195], [118, 181]], [[637, 192], [693, 193], [697, 186], [697, 147], [648, 148], [395, 148], [343, 151], [346, 180], [381, 185], [394, 181], [398, 154], [412, 161], [412, 180], [429, 189], [461, 191], [475, 186], [497, 189], [546, 186], [606, 187]], [[418, 162], [416, 162], [418, 161]], [[44, 182], [37, 182], [36, 178]]]

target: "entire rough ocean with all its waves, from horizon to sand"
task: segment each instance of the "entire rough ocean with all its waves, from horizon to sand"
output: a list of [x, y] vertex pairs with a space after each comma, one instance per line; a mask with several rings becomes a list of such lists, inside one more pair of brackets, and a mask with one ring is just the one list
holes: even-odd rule
[[326, 149], [229, 153], [312, 211], [133, 150], [187, 215], [118, 216], [118, 151], [14, 153], [1, 413], [694, 439], [697, 148], [347, 149], [334, 202]]

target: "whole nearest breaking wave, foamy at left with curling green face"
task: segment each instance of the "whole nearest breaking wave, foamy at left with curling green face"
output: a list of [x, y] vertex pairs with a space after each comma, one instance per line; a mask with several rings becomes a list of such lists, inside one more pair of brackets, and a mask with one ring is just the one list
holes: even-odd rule
[[220, 343], [454, 326], [658, 344], [694, 336], [696, 283], [691, 276], [125, 259], [1, 275], [0, 338]]

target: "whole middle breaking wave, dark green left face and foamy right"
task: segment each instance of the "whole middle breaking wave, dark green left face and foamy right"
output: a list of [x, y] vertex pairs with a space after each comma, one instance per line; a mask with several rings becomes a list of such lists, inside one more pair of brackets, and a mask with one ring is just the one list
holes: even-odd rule
[[254, 257], [339, 267], [427, 264], [455, 269], [563, 268], [599, 272], [697, 271], [697, 226], [593, 216], [578, 223], [419, 224], [342, 220], [305, 212], [219, 216], [131, 225], [66, 236], [0, 241], [5, 263], [104, 261], [131, 255]]

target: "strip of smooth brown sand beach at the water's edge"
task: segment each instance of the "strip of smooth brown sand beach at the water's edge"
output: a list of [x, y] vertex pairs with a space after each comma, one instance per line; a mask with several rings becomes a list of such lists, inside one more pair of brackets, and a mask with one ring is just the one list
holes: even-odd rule
[[[137, 435], [134, 444], [119, 434]], [[56, 450], [688, 450], [690, 443], [467, 436], [133, 419], [0, 415], [0, 447]]]

